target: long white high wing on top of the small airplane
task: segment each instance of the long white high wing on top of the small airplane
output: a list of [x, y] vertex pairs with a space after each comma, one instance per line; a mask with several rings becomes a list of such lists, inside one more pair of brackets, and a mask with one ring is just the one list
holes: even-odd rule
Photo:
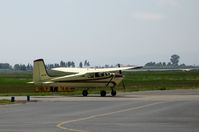
[[129, 69], [139, 69], [142, 67], [135, 66], [135, 67], [117, 67], [117, 68], [66, 68], [66, 67], [59, 67], [53, 68], [52, 70], [67, 72], [67, 73], [76, 73], [78, 74], [87, 74], [87, 73], [98, 73], [98, 72], [114, 72], [114, 71], [123, 71]]

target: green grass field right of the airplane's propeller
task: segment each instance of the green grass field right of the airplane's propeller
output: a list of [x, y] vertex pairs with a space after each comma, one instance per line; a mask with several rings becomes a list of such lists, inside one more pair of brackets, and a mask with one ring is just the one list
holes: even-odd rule
[[126, 91], [199, 88], [199, 71], [146, 71], [124, 74]]

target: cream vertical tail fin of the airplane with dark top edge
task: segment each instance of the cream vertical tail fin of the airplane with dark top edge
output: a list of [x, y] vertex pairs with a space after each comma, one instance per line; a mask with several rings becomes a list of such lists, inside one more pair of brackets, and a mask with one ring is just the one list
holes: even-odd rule
[[34, 83], [44, 82], [48, 81], [50, 78], [51, 77], [48, 75], [46, 71], [44, 60], [43, 59], [35, 60], [33, 66], [33, 82]]

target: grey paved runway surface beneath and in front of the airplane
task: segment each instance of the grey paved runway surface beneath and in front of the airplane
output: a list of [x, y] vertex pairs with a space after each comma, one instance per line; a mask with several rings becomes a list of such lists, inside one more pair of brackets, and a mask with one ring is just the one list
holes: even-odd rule
[[0, 106], [0, 131], [199, 131], [199, 89], [31, 99], [35, 102]]

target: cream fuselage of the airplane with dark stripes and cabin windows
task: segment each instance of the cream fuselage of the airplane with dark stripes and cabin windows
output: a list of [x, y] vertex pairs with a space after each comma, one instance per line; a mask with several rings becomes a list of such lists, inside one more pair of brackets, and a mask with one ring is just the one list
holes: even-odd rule
[[54, 78], [51, 77], [48, 81], [51, 83], [37, 83], [37, 85], [46, 85], [53, 87], [68, 87], [68, 88], [99, 88], [99, 87], [115, 87], [123, 80], [123, 76], [115, 73], [95, 73], [82, 76], [74, 76], [70, 78]]

